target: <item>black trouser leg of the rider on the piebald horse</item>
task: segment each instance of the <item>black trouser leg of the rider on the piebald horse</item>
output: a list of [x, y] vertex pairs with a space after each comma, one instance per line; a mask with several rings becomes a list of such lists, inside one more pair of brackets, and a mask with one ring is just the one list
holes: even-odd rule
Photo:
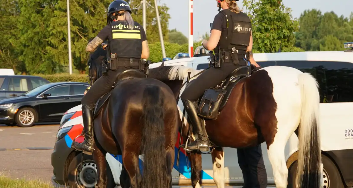
[[240, 67], [240, 65], [234, 65], [233, 63], [223, 63], [222, 68], [211, 67], [205, 70], [197, 77], [197, 79], [188, 84], [187, 88], [185, 88], [184, 92], [181, 94], [180, 99], [196, 101], [203, 95], [206, 89], [215, 87], [220, 84], [238, 67]]

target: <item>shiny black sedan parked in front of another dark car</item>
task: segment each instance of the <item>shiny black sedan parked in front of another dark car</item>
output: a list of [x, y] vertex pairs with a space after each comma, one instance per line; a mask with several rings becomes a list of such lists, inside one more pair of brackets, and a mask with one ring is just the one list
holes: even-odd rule
[[36, 122], [60, 122], [70, 108], [81, 104], [83, 82], [48, 83], [23, 95], [0, 100], [0, 124], [30, 127]]

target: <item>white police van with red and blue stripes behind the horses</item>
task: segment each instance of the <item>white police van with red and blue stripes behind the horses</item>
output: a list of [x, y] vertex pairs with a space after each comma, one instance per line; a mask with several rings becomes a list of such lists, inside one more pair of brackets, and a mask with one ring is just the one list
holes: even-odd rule
[[[255, 61], [262, 67], [282, 65], [309, 72], [316, 77], [320, 85], [321, 111], [321, 142], [322, 162], [324, 165], [324, 188], [353, 187], [353, 43], [345, 43], [345, 51], [318, 52], [280, 52], [253, 54]], [[183, 65], [194, 69], [208, 67], [208, 56], [171, 59], [164, 61], [164, 65]], [[158, 67], [160, 63], [150, 65]], [[178, 106], [183, 110], [183, 104]], [[84, 170], [78, 171], [81, 154], [73, 151], [70, 146], [72, 139], [77, 137], [83, 129], [81, 106], [69, 109], [62, 117], [57, 135], [52, 165], [54, 167], [54, 181], [60, 184], [75, 184], [72, 187], [89, 187], [95, 184], [89, 173], [96, 173], [91, 156], [85, 156]], [[83, 137], [79, 137], [81, 142]], [[177, 143], [175, 145], [177, 151]], [[232, 187], [243, 184], [243, 174], [238, 165], [237, 151], [225, 148], [226, 184]], [[262, 144], [263, 158], [268, 175], [268, 184], [274, 185], [273, 170], [267, 155], [267, 146]], [[287, 167], [289, 170], [288, 183], [295, 185], [297, 167], [298, 137], [293, 134], [285, 149]], [[175, 152], [177, 155], [177, 152]], [[179, 167], [174, 163], [173, 184], [191, 185], [190, 168], [185, 153], [180, 153]], [[106, 156], [109, 166], [120, 169], [121, 156]], [[175, 157], [176, 159], [177, 157]], [[202, 156], [203, 184], [214, 184], [211, 155]], [[70, 176], [68, 176], [70, 174]], [[73, 175], [73, 176], [72, 176]], [[119, 184], [120, 173], [114, 175]], [[92, 186], [93, 187], [93, 186]]]

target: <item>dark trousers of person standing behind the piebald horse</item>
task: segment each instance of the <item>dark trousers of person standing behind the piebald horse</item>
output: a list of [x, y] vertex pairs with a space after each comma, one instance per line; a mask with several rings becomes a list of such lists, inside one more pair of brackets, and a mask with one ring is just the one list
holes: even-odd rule
[[237, 149], [237, 153], [239, 167], [243, 171], [243, 188], [266, 188], [267, 173], [262, 157], [261, 144]]

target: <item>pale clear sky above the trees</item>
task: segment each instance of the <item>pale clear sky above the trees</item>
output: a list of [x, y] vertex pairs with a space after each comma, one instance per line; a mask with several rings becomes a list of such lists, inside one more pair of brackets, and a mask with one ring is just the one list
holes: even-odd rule
[[[147, 0], [148, 1], [148, 0]], [[240, 8], [243, 8], [243, 0], [237, 1]], [[188, 27], [188, 0], [160, 0], [159, 4], [166, 4], [169, 7], [169, 29], [177, 29], [186, 37], [189, 35]], [[321, 10], [322, 13], [334, 11], [337, 15], [349, 17], [353, 12], [353, 0], [283, 0], [286, 7], [292, 9], [292, 16], [299, 18], [304, 10], [313, 8]], [[245, 8], [244, 8], [244, 11]], [[215, 0], [193, 0], [193, 29], [194, 40], [206, 32], [210, 32], [210, 23], [213, 22], [218, 13]]]

